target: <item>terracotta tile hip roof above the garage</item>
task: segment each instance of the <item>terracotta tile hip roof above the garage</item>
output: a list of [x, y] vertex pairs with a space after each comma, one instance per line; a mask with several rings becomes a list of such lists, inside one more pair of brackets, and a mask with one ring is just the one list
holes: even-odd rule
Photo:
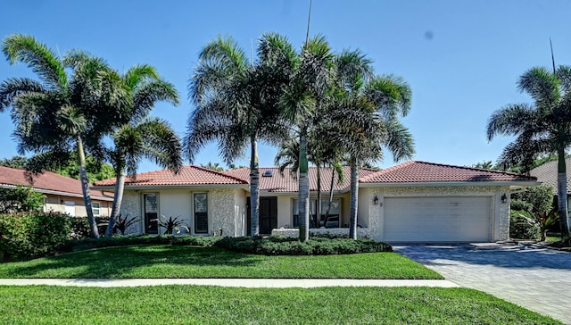
[[434, 162], [404, 162], [360, 179], [362, 183], [431, 183], [478, 181], [534, 181], [534, 177]]

